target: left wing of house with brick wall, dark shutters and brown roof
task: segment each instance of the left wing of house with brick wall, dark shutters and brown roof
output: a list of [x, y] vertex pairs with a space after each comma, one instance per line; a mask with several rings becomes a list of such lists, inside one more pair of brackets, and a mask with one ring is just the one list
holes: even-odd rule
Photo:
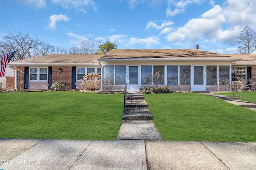
[[[103, 55], [43, 55], [10, 62], [17, 70], [17, 87], [50, 88], [55, 82], [66, 83], [67, 89], [80, 87], [84, 74], [101, 74], [98, 58]], [[61, 72], [60, 72], [61, 71]]]

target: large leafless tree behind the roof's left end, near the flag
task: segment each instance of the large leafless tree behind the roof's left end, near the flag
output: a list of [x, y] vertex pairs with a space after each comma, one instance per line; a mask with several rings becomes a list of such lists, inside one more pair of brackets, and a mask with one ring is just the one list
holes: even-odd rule
[[20, 31], [10, 32], [2, 37], [0, 40], [0, 52], [8, 53], [18, 49], [13, 60], [22, 60], [34, 56], [49, 54], [53, 47], [39, 40], [37, 37], [33, 38], [28, 33]]

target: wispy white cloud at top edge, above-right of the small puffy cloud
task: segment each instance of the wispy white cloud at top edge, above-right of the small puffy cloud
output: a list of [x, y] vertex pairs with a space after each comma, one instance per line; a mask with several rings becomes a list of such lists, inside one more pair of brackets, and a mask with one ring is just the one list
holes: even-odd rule
[[79, 8], [82, 11], [82, 6], [92, 6], [94, 11], [97, 11], [98, 6], [93, 0], [51, 0], [52, 4], [60, 5], [62, 8]]

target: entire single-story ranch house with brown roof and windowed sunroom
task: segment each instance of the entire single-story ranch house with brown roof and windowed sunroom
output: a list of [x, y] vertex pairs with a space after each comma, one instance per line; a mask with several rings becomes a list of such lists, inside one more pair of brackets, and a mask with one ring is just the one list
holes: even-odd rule
[[127, 83], [129, 92], [138, 92], [150, 79], [186, 91], [230, 90], [227, 84], [236, 77], [256, 80], [256, 55], [197, 49], [113, 49], [105, 55], [44, 55], [9, 65], [15, 66], [22, 90], [50, 88], [55, 82], [66, 83], [68, 89], [80, 88], [82, 76], [91, 72], [102, 75], [102, 86], [123, 90]]

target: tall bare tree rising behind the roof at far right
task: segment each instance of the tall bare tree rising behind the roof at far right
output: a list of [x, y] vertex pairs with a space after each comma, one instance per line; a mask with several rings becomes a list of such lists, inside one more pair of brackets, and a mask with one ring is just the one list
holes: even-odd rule
[[238, 53], [250, 54], [255, 50], [256, 32], [250, 29], [250, 27], [244, 27], [236, 39], [236, 42], [241, 45], [238, 47]]

